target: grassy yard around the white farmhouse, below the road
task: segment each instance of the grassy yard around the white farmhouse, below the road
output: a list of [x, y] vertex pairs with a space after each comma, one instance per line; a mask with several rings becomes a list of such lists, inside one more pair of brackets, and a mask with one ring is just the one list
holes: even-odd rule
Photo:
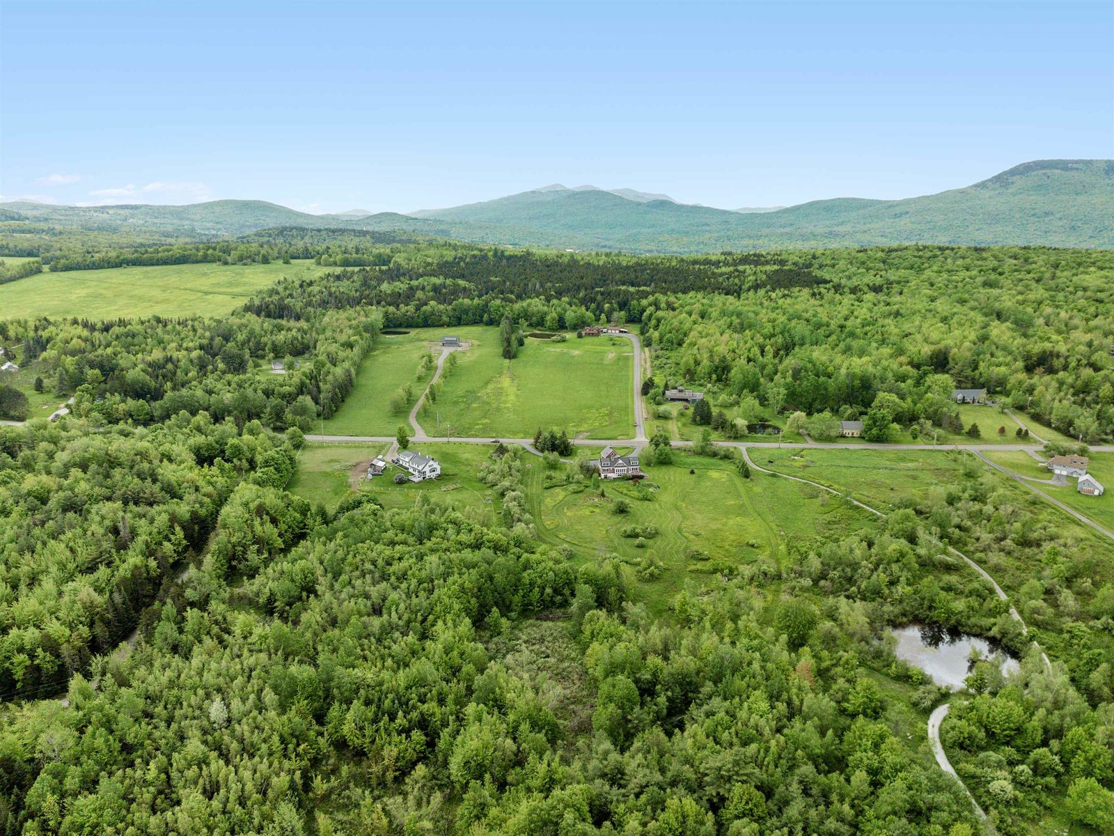
[[[351, 485], [372, 494], [384, 508], [410, 507], [424, 494], [460, 508], [473, 508], [489, 525], [499, 523], [499, 498], [476, 478], [480, 464], [491, 454], [490, 447], [459, 443], [412, 445], [410, 449], [441, 463], [439, 479], [395, 485], [392, 477], [399, 470], [393, 466], [382, 476], [367, 479], [368, 463], [377, 455], [385, 456], [389, 447], [387, 444], [306, 444], [299, 453], [297, 469], [287, 489], [330, 508], [335, 508], [349, 494]], [[540, 467], [541, 459], [527, 464]]]

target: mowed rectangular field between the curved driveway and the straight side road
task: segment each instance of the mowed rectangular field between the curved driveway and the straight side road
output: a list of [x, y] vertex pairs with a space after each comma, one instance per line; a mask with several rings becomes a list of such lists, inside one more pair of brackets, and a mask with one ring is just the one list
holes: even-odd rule
[[[517, 358], [504, 360], [498, 329], [458, 330], [470, 348], [459, 353], [441, 397], [427, 410], [440, 410], [453, 435], [530, 438], [539, 427], [554, 427], [569, 437], [634, 437], [628, 340], [527, 338]], [[428, 415], [422, 426], [433, 432]]]

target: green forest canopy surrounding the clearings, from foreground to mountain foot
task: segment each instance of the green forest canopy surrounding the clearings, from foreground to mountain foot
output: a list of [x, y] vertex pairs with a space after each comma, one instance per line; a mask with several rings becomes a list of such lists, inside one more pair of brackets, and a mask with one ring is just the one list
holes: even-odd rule
[[[610, 322], [641, 334], [655, 385], [716, 410], [751, 399], [885, 436], [950, 424], [951, 390], [980, 388], [1101, 444], [1114, 253], [633, 256], [303, 232], [49, 264], [339, 260], [226, 318], [0, 320], [39, 380], [0, 391], [72, 398], [58, 421], [0, 426], [0, 830], [971, 836], [924, 736], [948, 694], [885, 640], [916, 623], [1019, 660], [975, 664], [944, 727], [997, 830], [1114, 832], [1114, 546], [975, 465], [753, 562], [685, 555], [659, 607], [637, 594], [661, 573], [648, 557], [541, 537], [543, 459], [521, 449], [485, 448], [499, 514], [287, 490], [383, 331], [418, 327], [502, 327], [514, 367], [522, 331]], [[555, 453], [564, 485], [613, 492]], [[697, 454], [736, 455], [653, 467]], [[724, 474], [776, 478], [734, 458]], [[628, 490], [628, 508], [657, 500]], [[995, 566], [1009, 602], [947, 546]]]

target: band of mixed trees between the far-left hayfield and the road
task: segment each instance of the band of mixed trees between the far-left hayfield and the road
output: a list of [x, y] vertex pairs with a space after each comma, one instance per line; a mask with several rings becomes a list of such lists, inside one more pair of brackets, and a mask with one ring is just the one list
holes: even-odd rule
[[[313, 321], [237, 314], [165, 319], [0, 322], [45, 385], [72, 393], [74, 415], [107, 422], [164, 421], [207, 412], [238, 425], [310, 429], [348, 397], [379, 333], [375, 311], [329, 311]], [[291, 358], [304, 357], [294, 363]], [[285, 373], [267, 372], [285, 358]], [[258, 368], [262, 366], [262, 368]]]

